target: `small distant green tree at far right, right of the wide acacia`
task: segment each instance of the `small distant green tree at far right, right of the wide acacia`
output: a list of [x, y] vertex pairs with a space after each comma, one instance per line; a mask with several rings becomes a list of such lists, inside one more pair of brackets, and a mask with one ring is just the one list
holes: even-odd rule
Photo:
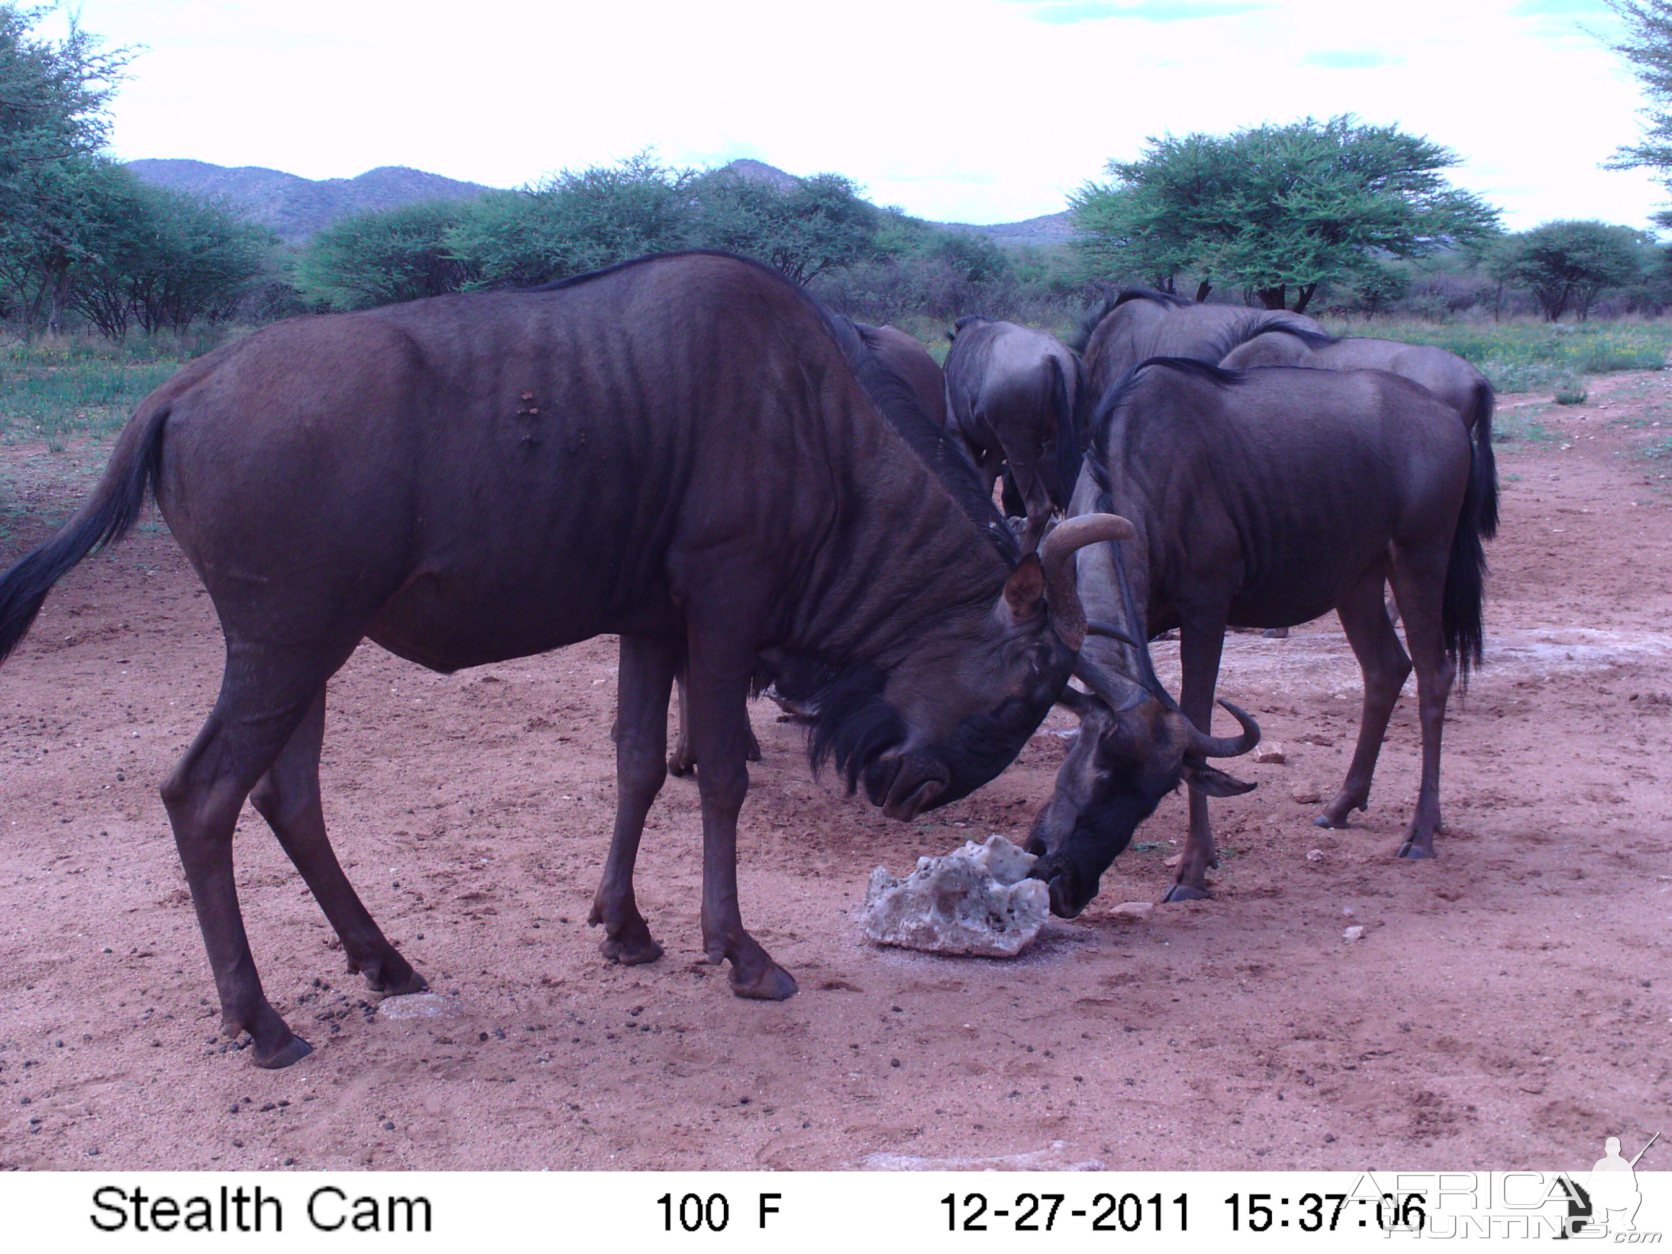
[[1486, 269], [1501, 283], [1532, 291], [1547, 321], [1570, 308], [1585, 321], [1597, 296], [1644, 274], [1652, 242], [1629, 226], [1545, 222], [1500, 241]]

